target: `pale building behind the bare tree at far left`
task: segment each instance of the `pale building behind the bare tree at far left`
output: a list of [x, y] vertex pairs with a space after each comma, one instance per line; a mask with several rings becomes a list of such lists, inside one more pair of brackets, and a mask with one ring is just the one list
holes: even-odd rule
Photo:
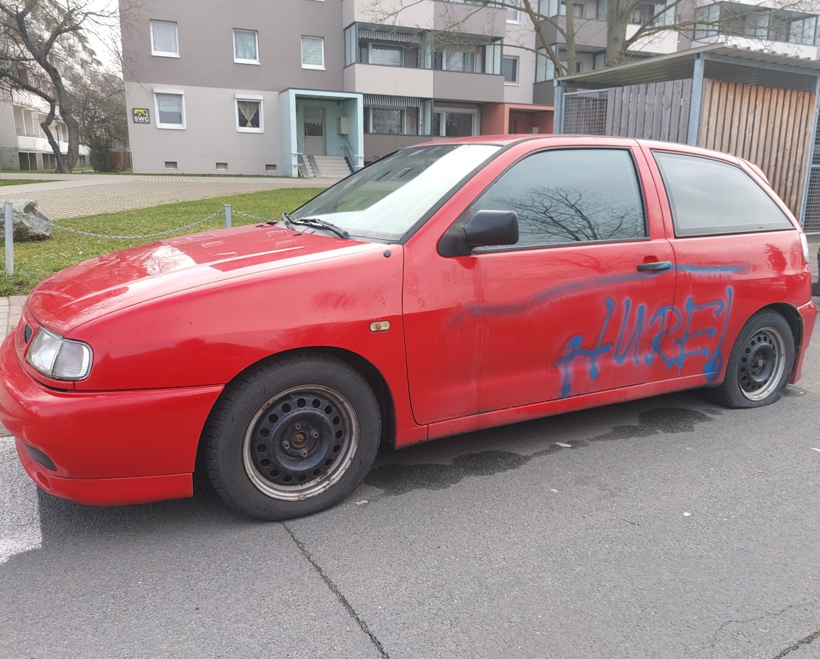
[[[57, 162], [40, 123], [48, 105], [21, 89], [0, 88], [0, 169], [55, 169]], [[52, 132], [61, 153], [68, 151], [68, 129], [55, 120]], [[89, 148], [80, 144], [78, 167], [89, 164]]]

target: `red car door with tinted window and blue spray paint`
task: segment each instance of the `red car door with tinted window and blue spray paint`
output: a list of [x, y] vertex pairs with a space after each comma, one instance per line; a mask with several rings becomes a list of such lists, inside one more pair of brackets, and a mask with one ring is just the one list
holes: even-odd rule
[[456, 257], [408, 249], [403, 311], [418, 423], [654, 378], [667, 328], [658, 309], [672, 304], [675, 273], [639, 166], [629, 147], [530, 153], [462, 212], [514, 210], [517, 245]]

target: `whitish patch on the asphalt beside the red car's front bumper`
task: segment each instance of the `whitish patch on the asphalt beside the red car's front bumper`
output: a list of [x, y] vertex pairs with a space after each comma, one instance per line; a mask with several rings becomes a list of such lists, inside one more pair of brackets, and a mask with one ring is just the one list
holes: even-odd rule
[[17, 459], [14, 437], [0, 437], [0, 565], [42, 546], [37, 486]]

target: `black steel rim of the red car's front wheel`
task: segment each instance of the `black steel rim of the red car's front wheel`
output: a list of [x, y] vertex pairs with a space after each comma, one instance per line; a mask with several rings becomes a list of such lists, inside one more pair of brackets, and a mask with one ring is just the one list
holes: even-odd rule
[[266, 496], [303, 501], [339, 483], [358, 443], [358, 415], [350, 401], [331, 387], [301, 385], [271, 397], [253, 415], [242, 461], [251, 483]]

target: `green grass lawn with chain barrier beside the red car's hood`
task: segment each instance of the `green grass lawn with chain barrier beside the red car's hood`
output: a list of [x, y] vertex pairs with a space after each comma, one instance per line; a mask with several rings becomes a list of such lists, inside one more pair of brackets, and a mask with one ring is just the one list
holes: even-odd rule
[[[71, 227], [80, 231], [91, 231], [114, 236], [144, 236], [184, 227], [186, 224], [201, 220], [212, 213], [219, 212], [209, 222], [197, 227], [171, 234], [181, 236], [213, 231], [225, 227], [225, 217], [221, 213], [224, 204], [231, 204], [234, 212], [248, 213], [266, 219], [278, 220], [282, 213], [291, 211], [304, 204], [307, 199], [321, 192], [321, 188], [294, 188], [289, 190], [266, 190], [248, 194], [236, 194], [230, 197], [216, 197], [186, 201], [179, 204], [165, 204], [153, 208], [111, 213], [108, 215], [94, 215], [93, 217], [76, 217], [71, 220], [57, 222], [63, 227]], [[253, 224], [256, 220], [241, 217], [234, 213], [233, 225]], [[162, 236], [168, 238], [171, 236]], [[94, 238], [80, 236], [52, 229], [49, 240], [38, 240], [14, 244], [14, 274], [8, 277], [5, 274], [5, 264], [0, 268], [0, 295], [24, 295], [29, 293], [39, 281], [52, 272], [67, 268], [74, 263], [80, 263], [100, 254], [107, 254], [116, 249], [123, 249], [134, 245], [142, 245], [161, 238], [142, 238], [134, 240], [112, 240], [110, 238]], [[0, 243], [4, 241], [0, 240]], [[2, 258], [5, 248], [0, 248]]]

